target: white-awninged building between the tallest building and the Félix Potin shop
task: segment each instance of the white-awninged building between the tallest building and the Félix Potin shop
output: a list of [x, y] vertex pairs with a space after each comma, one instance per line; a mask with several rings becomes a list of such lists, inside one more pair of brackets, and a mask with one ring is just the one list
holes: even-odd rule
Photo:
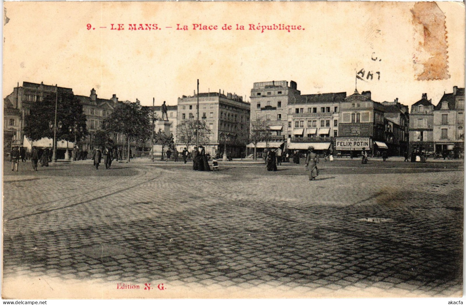
[[301, 95], [288, 103], [288, 149], [333, 149], [346, 92]]

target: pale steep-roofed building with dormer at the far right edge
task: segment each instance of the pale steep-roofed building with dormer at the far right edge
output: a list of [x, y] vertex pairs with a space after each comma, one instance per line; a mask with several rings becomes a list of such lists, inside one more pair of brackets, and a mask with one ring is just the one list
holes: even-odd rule
[[464, 151], [465, 88], [453, 87], [433, 109], [433, 142], [436, 153]]

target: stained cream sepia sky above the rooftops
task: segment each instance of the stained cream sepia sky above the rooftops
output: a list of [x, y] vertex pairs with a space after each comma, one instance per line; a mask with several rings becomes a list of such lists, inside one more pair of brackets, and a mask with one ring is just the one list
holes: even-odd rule
[[[377, 102], [411, 105], [426, 92], [437, 104], [444, 91], [465, 83], [465, 8], [439, 2], [448, 32], [449, 74], [417, 81], [413, 54], [422, 25], [413, 22], [414, 2], [4, 2], [3, 97], [23, 81], [73, 88], [100, 98], [175, 105], [219, 89], [249, 95], [254, 82], [296, 81], [302, 94], [352, 94], [361, 68], [374, 73], [358, 81]], [[91, 24], [95, 30], [88, 30]], [[110, 30], [110, 24], [125, 30]], [[161, 30], [130, 31], [129, 23], [157, 23]], [[188, 31], [176, 30], [177, 24]], [[218, 30], [192, 30], [193, 23]], [[223, 31], [223, 24], [246, 30]], [[247, 30], [248, 24], [301, 25], [305, 30]], [[100, 28], [107, 27], [107, 28]], [[172, 27], [172, 28], [165, 28]], [[377, 57], [377, 61], [371, 60]], [[378, 61], [381, 59], [382, 61]], [[376, 71], [380, 72], [377, 80]], [[365, 77], [364, 77], [365, 79]]]

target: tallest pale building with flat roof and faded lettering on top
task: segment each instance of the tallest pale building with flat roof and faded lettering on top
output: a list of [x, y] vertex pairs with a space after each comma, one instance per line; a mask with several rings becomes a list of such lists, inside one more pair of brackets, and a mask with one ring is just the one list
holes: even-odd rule
[[[267, 141], [276, 142], [274, 146], [283, 145], [288, 135], [288, 103], [298, 101], [301, 92], [295, 81], [255, 82], [251, 89], [251, 129], [261, 125], [268, 127], [270, 135]], [[258, 142], [257, 148], [263, 149], [268, 142]], [[253, 143], [247, 147], [254, 147]]]

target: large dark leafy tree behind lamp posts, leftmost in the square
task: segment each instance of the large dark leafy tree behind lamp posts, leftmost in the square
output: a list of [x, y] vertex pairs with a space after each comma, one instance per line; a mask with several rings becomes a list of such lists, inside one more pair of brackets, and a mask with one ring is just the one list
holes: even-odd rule
[[[56, 94], [46, 95], [42, 101], [35, 102], [26, 115], [26, 126], [24, 133], [32, 141], [40, 140], [43, 137], [54, 137], [54, 131], [49, 123], [55, 122], [55, 98]], [[57, 140], [74, 141], [74, 132], [69, 132], [69, 128], [79, 130], [76, 134], [77, 140], [85, 136], [87, 132], [86, 115], [82, 111], [82, 105], [75, 95], [68, 92], [60, 92], [58, 89], [57, 100], [57, 125], [62, 122], [62, 128], [57, 130]], [[57, 126], [58, 127], [58, 126]], [[82, 131], [81, 131], [82, 130]]]

